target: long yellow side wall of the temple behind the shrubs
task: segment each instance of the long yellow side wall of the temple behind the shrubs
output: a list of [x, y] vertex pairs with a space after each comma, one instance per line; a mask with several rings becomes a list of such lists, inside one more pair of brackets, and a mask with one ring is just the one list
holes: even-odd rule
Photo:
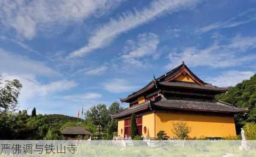
[[189, 137], [227, 137], [236, 136], [233, 116], [195, 115], [188, 113], [156, 112], [156, 132], [164, 130], [169, 137], [173, 123], [186, 122], [191, 127]]

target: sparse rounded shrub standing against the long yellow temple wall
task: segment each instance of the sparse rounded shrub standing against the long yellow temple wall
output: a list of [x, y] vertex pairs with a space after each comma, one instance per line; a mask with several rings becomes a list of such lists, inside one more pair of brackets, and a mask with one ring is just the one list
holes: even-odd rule
[[191, 128], [187, 126], [185, 122], [180, 121], [173, 123], [172, 132], [177, 136], [179, 140], [184, 140], [189, 138], [188, 134], [191, 132]]

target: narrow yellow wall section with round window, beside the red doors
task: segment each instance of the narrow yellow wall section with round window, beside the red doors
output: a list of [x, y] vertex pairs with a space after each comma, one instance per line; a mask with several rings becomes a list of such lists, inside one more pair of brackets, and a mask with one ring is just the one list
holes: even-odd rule
[[[147, 132], [144, 132], [144, 126]], [[155, 137], [155, 113], [148, 113], [142, 116], [142, 135], [147, 137]]]

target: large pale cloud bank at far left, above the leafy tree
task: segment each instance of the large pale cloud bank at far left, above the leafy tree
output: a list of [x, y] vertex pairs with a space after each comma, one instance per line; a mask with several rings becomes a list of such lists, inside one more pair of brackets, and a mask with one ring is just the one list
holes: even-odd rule
[[3, 79], [18, 79], [23, 88], [20, 92], [20, 100], [26, 105], [27, 99], [36, 98], [52, 93], [61, 92], [75, 87], [74, 81], [60, 79], [41, 83], [37, 76], [61, 76], [55, 70], [47, 67], [43, 62], [35, 61], [26, 56], [16, 55], [0, 48], [0, 75]]

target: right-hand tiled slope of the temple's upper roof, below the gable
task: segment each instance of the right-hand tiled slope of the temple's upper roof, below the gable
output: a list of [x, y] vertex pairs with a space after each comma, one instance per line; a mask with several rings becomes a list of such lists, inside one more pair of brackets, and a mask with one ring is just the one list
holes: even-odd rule
[[227, 91], [227, 88], [219, 88], [219, 87], [214, 87], [214, 86], [200, 86], [195, 83], [187, 83], [187, 82], [162, 81], [162, 82], [158, 82], [158, 84], [169, 86], [169, 87], [184, 87], [184, 88], [193, 88], [193, 89], [200, 89], [200, 90], [220, 91], [220, 92]]

